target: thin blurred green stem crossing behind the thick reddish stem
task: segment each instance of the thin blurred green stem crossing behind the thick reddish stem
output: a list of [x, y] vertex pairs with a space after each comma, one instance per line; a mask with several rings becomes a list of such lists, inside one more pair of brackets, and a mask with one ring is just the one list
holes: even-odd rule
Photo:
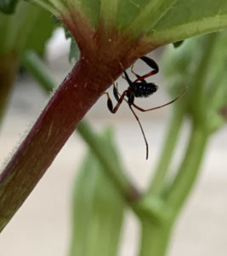
[[[43, 64], [35, 52], [31, 50], [26, 51], [22, 56], [22, 64], [26, 67], [26, 70], [31, 73], [32, 77], [42, 85], [43, 90], [51, 92], [54, 90], [55, 82], [54, 79], [47, 73], [47, 67]], [[111, 150], [108, 146], [104, 150], [105, 142], [100, 139], [99, 135], [95, 134], [88, 122], [82, 120], [77, 126], [76, 130], [80, 136], [88, 143], [89, 148], [93, 150], [94, 155], [99, 159], [105, 174], [107, 174], [111, 182], [117, 188], [117, 191], [122, 195], [123, 200], [135, 201], [138, 199], [139, 192], [128, 181], [128, 177], [122, 171], [121, 166], [116, 166], [116, 162], [112, 161]]]

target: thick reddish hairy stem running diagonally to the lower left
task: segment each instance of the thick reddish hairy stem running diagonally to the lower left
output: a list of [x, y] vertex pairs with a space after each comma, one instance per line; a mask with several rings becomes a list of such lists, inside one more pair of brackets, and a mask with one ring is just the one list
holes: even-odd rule
[[[105, 67], [81, 59], [48, 102], [20, 148], [0, 175], [0, 230], [8, 224], [53, 162], [77, 124], [111, 84]], [[122, 73], [114, 70], [114, 78]]]

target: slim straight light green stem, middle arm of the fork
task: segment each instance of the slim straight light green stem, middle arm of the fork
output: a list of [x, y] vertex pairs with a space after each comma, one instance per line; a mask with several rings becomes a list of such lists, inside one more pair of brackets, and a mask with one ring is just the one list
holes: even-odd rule
[[167, 135], [162, 147], [156, 172], [147, 192], [148, 195], [159, 195], [162, 192], [163, 184], [166, 182], [168, 167], [171, 163], [174, 148], [177, 144], [179, 131], [184, 119], [184, 105], [180, 102], [174, 106], [173, 114], [168, 125]]

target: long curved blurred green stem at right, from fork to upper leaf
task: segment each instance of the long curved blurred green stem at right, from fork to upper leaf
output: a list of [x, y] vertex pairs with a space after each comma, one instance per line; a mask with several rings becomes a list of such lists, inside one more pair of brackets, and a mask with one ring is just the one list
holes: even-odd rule
[[196, 66], [195, 76], [191, 81], [193, 87], [190, 90], [190, 98], [193, 99], [193, 102], [191, 101], [190, 108], [192, 110], [193, 127], [189, 145], [184, 155], [184, 160], [179, 166], [179, 172], [167, 191], [167, 204], [173, 207], [173, 216], [176, 216], [179, 212], [187, 195], [190, 193], [192, 185], [195, 183], [209, 137], [205, 89], [207, 73], [212, 65], [213, 46], [217, 38], [216, 34], [211, 34], [201, 40], [201, 56]]

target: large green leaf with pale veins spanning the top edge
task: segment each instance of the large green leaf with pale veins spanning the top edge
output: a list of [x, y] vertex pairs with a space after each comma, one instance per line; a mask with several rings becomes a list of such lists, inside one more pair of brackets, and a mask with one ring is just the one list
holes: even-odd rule
[[[71, 9], [91, 26], [114, 26], [152, 45], [174, 43], [227, 26], [227, 2], [218, 0], [35, 0], [58, 17], [71, 20]], [[67, 4], [69, 7], [67, 7]], [[67, 9], [68, 8], [68, 9]], [[77, 12], [75, 15], [77, 15]]]

